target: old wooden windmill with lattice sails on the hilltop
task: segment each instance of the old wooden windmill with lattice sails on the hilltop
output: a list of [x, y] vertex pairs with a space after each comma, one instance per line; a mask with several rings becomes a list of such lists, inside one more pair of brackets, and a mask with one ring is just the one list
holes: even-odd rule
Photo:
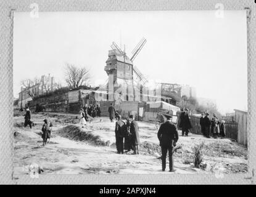
[[[141, 41], [139, 41], [132, 51], [133, 55], [131, 58], [129, 58], [126, 55], [126, 52], [120, 49], [115, 42], [110, 46], [112, 50], [109, 50], [109, 58], [106, 61], [107, 65], [104, 70], [109, 76], [109, 83], [113, 83], [114, 92], [118, 92], [122, 95], [128, 95], [124, 100], [134, 100], [134, 90], [132, 90], [131, 95], [130, 87], [134, 89], [134, 86], [142, 86], [147, 82], [147, 79], [139, 69], [133, 65], [134, 59], [146, 44], [146, 41], [147, 40], [145, 38], [142, 38]], [[112, 84], [109, 84], [108, 87], [110, 87], [110, 85]], [[120, 92], [122, 87], [127, 87], [127, 89], [123, 89], [122, 92]]]

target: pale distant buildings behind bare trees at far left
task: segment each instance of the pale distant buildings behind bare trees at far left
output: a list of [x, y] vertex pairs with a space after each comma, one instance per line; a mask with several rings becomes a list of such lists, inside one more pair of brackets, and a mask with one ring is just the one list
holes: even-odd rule
[[48, 76], [41, 76], [40, 80], [28, 81], [28, 86], [21, 87], [20, 89], [18, 107], [25, 108], [27, 103], [33, 100], [33, 98], [56, 89], [55, 84], [54, 77], [50, 76], [50, 74]]

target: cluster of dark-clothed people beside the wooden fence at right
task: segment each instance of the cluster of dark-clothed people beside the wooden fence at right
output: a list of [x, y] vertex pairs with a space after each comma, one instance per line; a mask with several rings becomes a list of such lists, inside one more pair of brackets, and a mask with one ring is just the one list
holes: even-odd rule
[[219, 135], [222, 139], [225, 138], [225, 121], [219, 121], [218, 117], [214, 113], [212, 120], [209, 118], [209, 113], [202, 113], [200, 117], [200, 127], [202, 134], [207, 138], [210, 138], [210, 132], [212, 132], [215, 139], [217, 139]]

